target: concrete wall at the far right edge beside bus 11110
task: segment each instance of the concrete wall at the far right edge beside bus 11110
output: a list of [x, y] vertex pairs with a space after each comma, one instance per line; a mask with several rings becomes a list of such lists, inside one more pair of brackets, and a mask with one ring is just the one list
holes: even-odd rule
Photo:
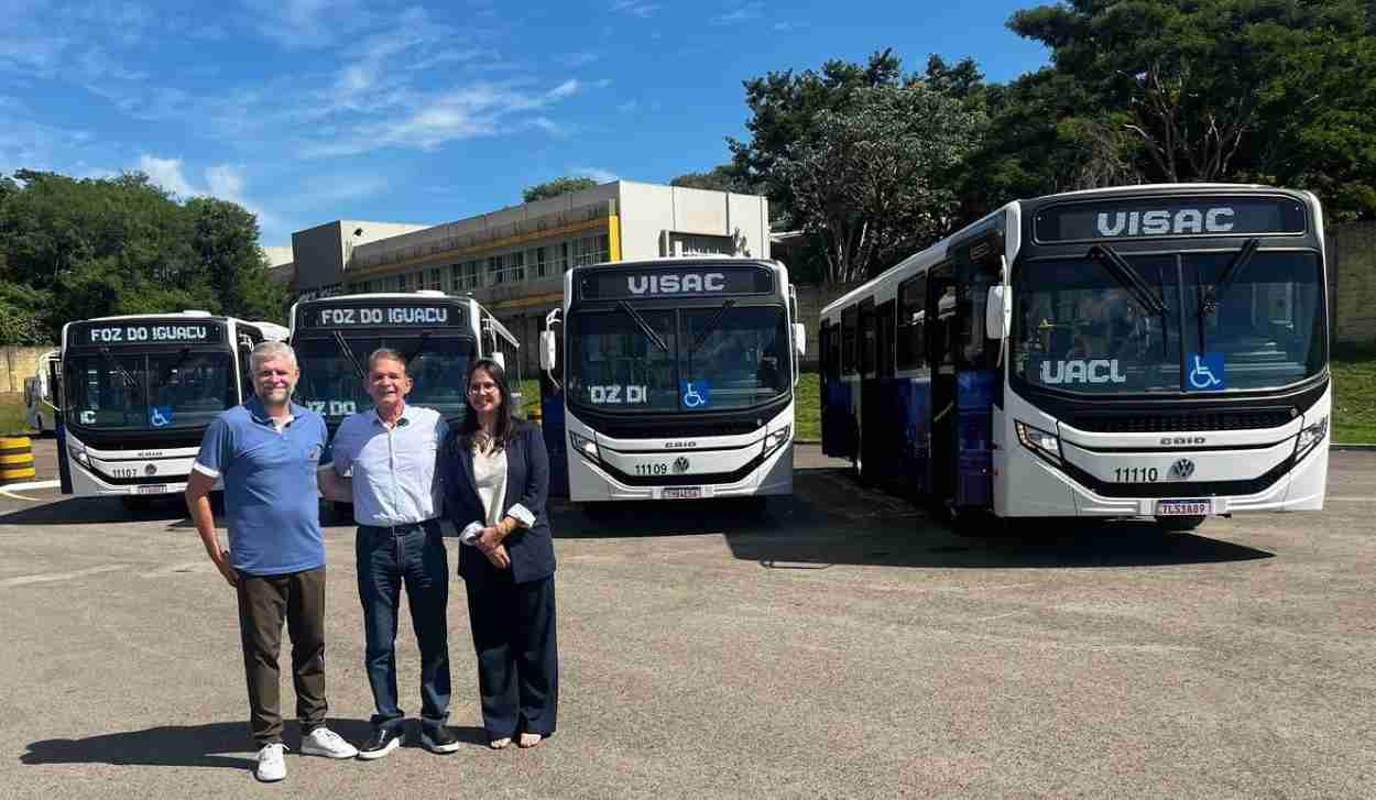
[[1326, 246], [1333, 342], [1376, 346], [1376, 223], [1332, 225]]

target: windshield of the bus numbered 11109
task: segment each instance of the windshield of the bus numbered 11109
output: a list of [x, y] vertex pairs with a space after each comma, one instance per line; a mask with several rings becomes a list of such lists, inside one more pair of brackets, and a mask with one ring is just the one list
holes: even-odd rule
[[567, 341], [568, 401], [601, 411], [747, 408], [791, 385], [782, 307], [585, 311]]

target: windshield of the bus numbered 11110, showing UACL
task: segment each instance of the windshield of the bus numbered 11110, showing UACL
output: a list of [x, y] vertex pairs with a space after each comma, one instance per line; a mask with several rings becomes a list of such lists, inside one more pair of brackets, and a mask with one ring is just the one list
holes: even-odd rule
[[[1266, 389], [1317, 374], [1326, 357], [1317, 253], [1247, 256], [1223, 283], [1237, 252], [1127, 254], [1127, 271], [1088, 257], [1018, 264], [1013, 374], [1094, 395]], [[1137, 278], [1150, 297], [1134, 290]]]

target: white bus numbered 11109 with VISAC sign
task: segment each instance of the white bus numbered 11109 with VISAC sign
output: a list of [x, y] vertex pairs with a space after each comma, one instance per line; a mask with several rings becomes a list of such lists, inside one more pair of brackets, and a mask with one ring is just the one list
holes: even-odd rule
[[689, 257], [566, 272], [563, 308], [541, 334], [552, 491], [567, 469], [575, 502], [793, 492], [794, 385], [806, 342], [795, 319], [777, 261]]

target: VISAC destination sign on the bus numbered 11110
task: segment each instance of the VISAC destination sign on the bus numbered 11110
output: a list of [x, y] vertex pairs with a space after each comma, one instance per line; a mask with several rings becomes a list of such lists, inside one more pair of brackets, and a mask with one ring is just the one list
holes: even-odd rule
[[1163, 198], [1076, 203], [1038, 212], [1036, 241], [1303, 234], [1304, 206], [1288, 198]]

